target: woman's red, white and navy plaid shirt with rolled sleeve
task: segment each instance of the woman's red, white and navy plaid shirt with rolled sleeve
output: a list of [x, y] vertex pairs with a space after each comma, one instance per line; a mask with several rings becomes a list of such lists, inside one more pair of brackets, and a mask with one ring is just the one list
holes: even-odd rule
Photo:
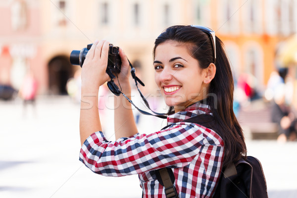
[[207, 105], [194, 105], [169, 115], [169, 128], [108, 142], [102, 132], [92, 134], [80, 151], [82, 161], [104, 176], [138, 174], [145, 198], [165, 198], [154, 170], [170, 167], [179, 198], [211, 198], [223, 162], [223, 140], [213, 130], [183, 120], [211, 114]]

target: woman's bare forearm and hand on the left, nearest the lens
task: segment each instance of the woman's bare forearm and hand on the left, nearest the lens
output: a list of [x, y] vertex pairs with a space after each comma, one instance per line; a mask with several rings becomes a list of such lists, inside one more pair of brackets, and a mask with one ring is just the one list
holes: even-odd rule
[[96, 41], [89, 50], [82, 68], [82, 100], [80, 110], [81, 144], [93, 133], [102, 131], [98, 111], [98, 91], [109, 76], [107, 67], [109, 43]]

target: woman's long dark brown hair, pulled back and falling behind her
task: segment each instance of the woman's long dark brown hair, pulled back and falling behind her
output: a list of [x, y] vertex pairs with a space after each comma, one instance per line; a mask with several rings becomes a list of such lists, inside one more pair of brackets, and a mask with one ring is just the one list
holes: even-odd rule
[[[188, 52], [198, 60], [204, 69], [213, 63], [214, 53], [209, 36], [192, 26], [172, 26], [167, 28], [155, 40], [153, 58], [156, 47], [166, 41], [176, 41], [187, 46]], [[224, 166], [246, 157], [247, 148], [243, 130], [233, 111], [234, 82], [229, 60], [222, 41], [216, 37], [216, 74], [210, 82], [206, 104], [210, 106], [216, 123], [214, 130], [224, 141]], [[173, 112], [169, 108], [168, 114]]]

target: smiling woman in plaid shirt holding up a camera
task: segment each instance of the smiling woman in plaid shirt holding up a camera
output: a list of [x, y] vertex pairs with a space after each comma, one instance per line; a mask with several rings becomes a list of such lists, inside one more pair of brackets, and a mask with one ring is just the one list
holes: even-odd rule
[[[138, 174], [145, 198], [213, 197], [222, 168], [246, 156], [222, 42], [202, 26], [172, 26], [160, 34], [153, 67], [155, 82], [170, 107], [168, 126], [139, 134], [131, 104], [121, 95], [114, 99], [115, 142], [105, 139], [98, 108], [92, 105], [98, 103], [99, 87], [108, 80], [108, 45], [95, 42], [82, 68], [80, 160], [105, 176]], [[129, 96], [129, 62], [122, 49], [120, 56], [121, 72], [114, 82], [120, 82]], [[172, 188], [165, 191], [167, 184], [159, 178], [162, 168], [172, 170]]]

